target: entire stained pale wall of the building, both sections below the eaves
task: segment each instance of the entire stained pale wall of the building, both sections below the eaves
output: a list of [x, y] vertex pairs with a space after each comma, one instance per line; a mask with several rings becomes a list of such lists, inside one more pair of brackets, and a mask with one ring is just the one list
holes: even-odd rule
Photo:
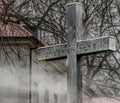
[[[0, 103], [29, 103], [29, 49], [4, 47], [10, 57], [7, 61], [0, 48]], [[66, 78], [50, 63], [37, 61], [37, 52], [32, 52], [32, 103], [66, 103]]]

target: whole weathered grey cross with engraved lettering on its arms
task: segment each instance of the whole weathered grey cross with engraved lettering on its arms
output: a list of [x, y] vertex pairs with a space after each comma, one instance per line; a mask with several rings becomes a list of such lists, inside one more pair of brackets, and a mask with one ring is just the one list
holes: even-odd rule
[[66, 16], [67, 43], [39, 48], [38, 60], [67, 58], [67, 103], [82, 103], [80, 56], [83, 54], [115, 51], [116, 40], [114, 37], [81, 40], [82, 6], [80, 3], [69, 3]]

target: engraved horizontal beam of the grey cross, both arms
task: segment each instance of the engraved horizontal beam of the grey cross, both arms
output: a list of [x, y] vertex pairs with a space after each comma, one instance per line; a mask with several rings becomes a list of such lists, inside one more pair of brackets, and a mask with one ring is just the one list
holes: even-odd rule
[[[77, 42], [77, 54], [99, 53], [103, 51], [115, 51], [115, 37], [99, 37]], [[67, 57], [67, 44], [60, 44], [48, 47], [38, 48], [38, 60], [50, 60]], [[72, 50], [71, 50], [72, 51]]]

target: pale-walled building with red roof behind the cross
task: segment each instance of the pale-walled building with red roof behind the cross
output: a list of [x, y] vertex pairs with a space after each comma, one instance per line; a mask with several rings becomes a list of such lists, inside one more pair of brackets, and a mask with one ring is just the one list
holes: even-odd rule
[[64, 103], [64, 65], [37, 60], [47, 44], [16, 24], [0, 25], [0, 36], [0, 103]]

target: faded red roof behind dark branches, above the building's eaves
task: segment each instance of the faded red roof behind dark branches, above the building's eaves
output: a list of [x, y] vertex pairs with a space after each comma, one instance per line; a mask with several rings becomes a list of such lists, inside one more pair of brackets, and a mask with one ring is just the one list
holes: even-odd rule
[[[5, 11], [4, 5], [8, 1], [9, 0], [0, 1], [0, 14], [11, 12], [11, 10], [9, 11], [9, 9]], [[14, 23], [2, 24], [0, 22], [0, 37], [31, 37], [31, 36], [33, 35], [30, 32], [28, 32], [25, 28], [23, 28], [22, 26], [18, 24], [14, 24]]]

